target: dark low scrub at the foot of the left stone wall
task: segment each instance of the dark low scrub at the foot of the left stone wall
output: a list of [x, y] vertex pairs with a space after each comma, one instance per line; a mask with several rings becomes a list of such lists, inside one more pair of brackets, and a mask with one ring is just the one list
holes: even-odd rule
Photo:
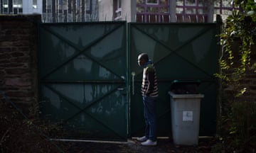
[[0, 152], [65, 152], [68, 145], [53, 142], [50, 136], [63, 135], [59, 125], [39, 120], [31, 107], [29, 119], [0, 98]]

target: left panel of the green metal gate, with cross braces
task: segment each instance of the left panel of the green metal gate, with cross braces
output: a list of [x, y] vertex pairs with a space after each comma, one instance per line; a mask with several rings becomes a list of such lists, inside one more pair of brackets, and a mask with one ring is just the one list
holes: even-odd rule
[[63, 125], [66, 138], [127, 140], [126, 26], [39, 26], [41, 112]]

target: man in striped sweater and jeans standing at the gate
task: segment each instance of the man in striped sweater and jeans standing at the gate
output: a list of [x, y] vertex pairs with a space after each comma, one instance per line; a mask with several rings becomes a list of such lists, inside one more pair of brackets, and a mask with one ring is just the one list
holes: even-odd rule
[[156, 98], [158, 97], [156, 69], [146, 53], [138, 56], [138, 64], [143, 69], [142, 99], [144, 104], [145, 135], [138, 137], [142, 145], [156, 145]]

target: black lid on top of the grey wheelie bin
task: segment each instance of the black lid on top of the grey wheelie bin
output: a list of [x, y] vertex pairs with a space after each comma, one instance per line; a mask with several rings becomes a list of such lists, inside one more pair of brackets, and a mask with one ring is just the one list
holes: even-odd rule
[[198, 94], [200, 80], [174, 80], [171, 82], [170, 91], [174, 94]]

